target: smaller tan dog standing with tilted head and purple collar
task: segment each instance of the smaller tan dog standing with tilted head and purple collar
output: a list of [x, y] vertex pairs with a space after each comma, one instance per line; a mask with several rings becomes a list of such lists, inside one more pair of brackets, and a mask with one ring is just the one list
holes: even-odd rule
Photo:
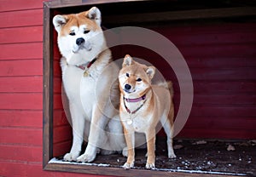
[[127, 161], [123, 168], [134, 166], [134, 134], [144, 133], [147, 140], [148, 159], [146, 168], [154, 168], [155, 134], [160, 122], [167, 135], [168, 157], [176, 157], [172, 148], [174, 108], [172, 83], [151, 84], [154, 66], [145, 66], [126, 54], [119, 71], [120, 106], [119, 115], [124, 127], [128, 148]]

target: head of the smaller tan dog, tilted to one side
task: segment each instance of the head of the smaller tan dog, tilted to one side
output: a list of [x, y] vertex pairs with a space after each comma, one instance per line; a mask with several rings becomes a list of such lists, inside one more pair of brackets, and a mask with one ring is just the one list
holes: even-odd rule
[[154, 66], [145, 66], [132, 60], [129, 54], [125, 55], [123, 67], [119, 71], [120, 91], [131, 97], [143, 96], [151, 86], [154, 77]]

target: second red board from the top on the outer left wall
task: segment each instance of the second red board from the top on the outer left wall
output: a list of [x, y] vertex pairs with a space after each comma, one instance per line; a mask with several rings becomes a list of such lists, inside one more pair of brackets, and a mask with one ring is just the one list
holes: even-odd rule
[[3, 12], [0, 21], [4, 21], [0, 28], [43, 26], [43, 9]]

